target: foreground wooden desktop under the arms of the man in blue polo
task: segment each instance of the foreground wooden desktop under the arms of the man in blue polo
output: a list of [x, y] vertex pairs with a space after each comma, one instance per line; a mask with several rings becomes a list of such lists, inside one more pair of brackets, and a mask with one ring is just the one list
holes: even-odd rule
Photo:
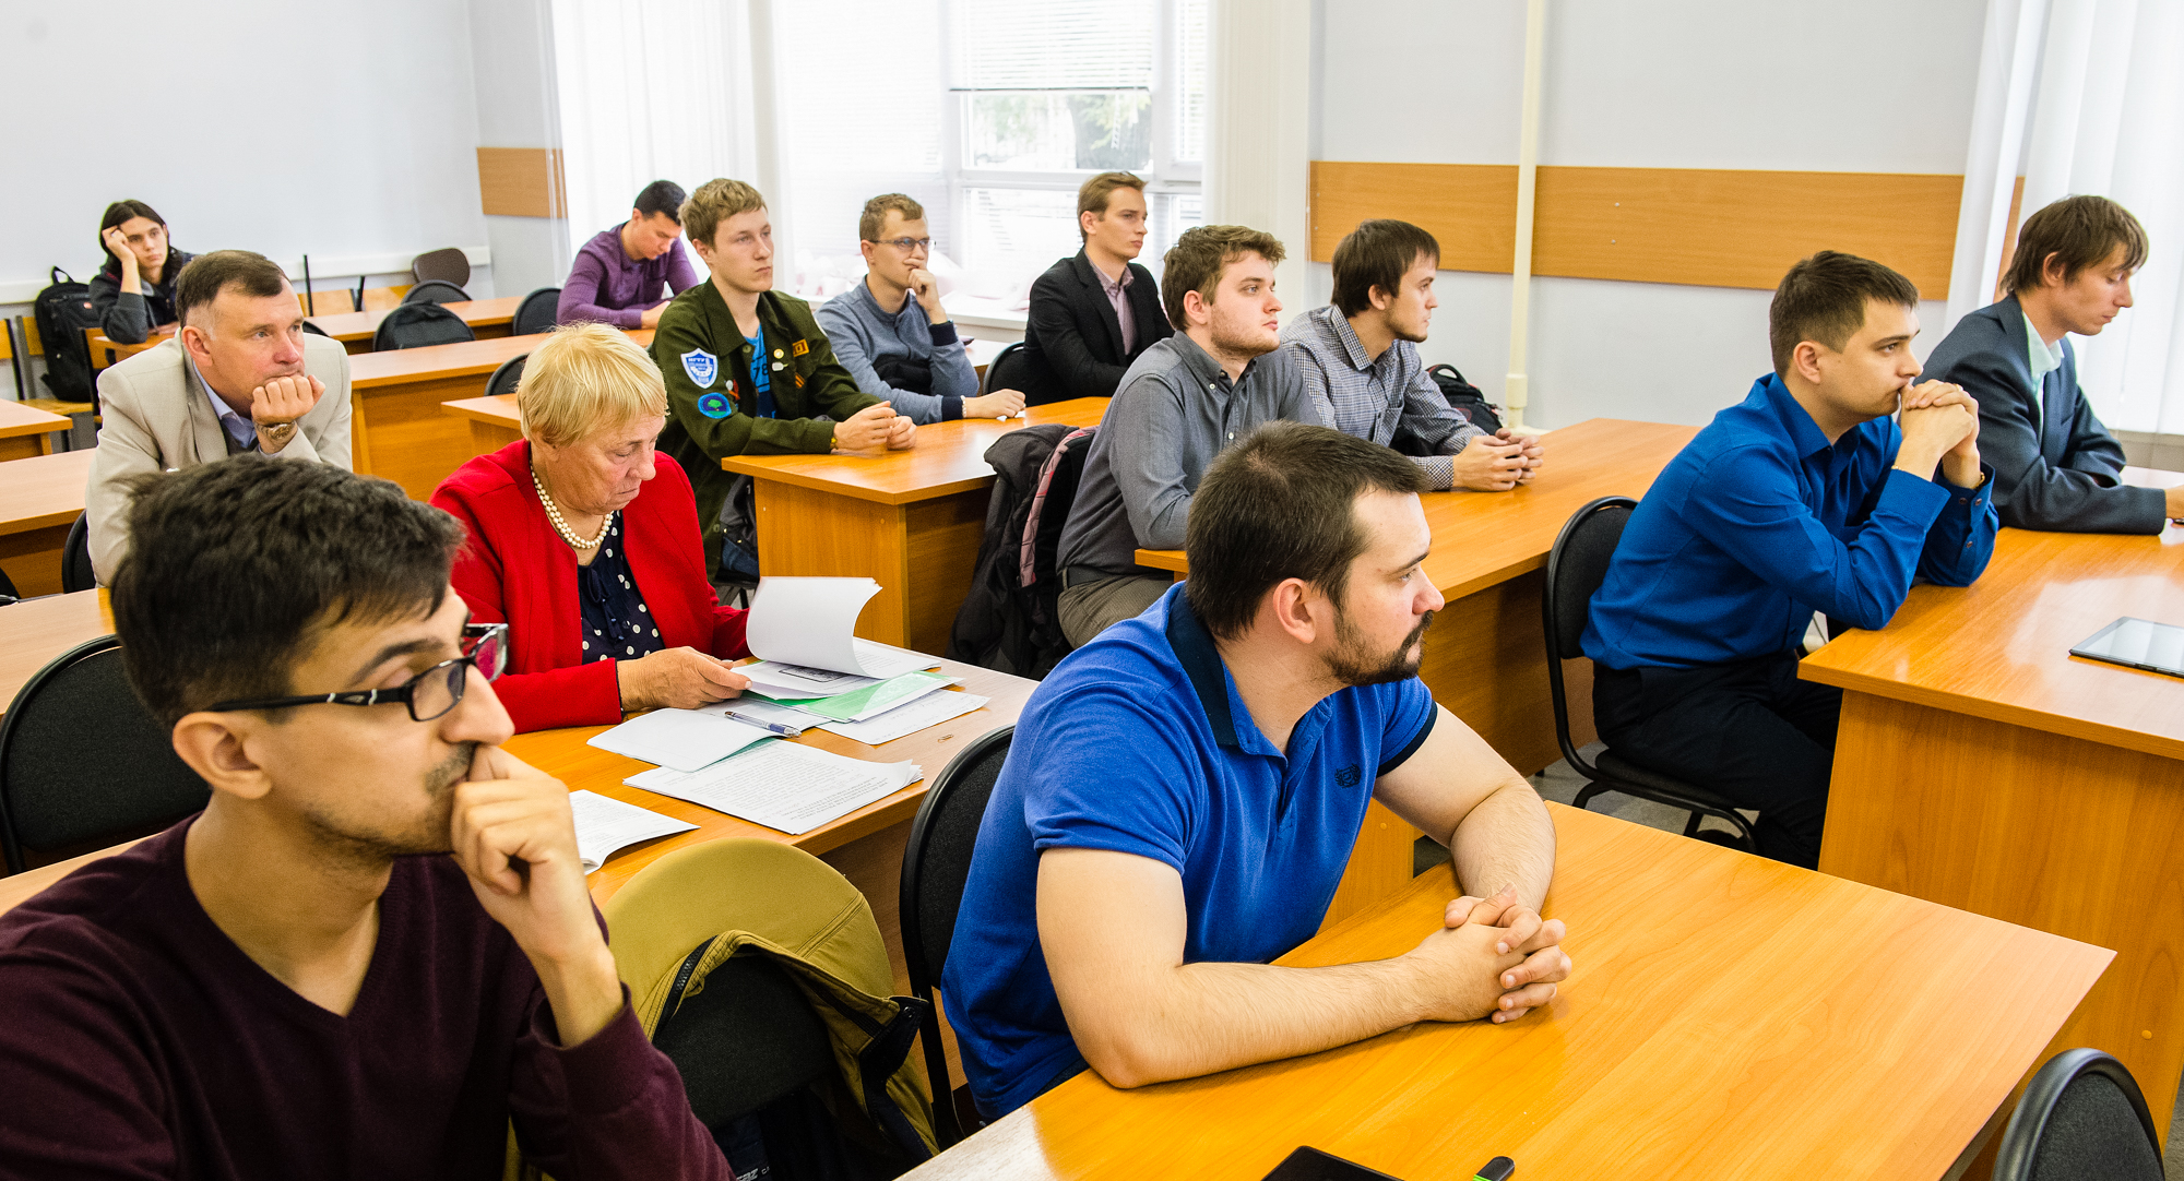
[[[2110, 952], [1551, 806], [1546, 912], [1577, 974], [1509, 1026], [1417, 1024], [1306, 1059], [1035, 1098], [911, 1179], [1258, 1179], [1315, 1148], [1406, 1181], [1937, 1179]], [[1446, 869], [1297, 947], [1409, 952]], [[1673, 915], [1673, 921], [1662, 921]], [[1911, 965], [1898, 971], [1887, 965]], [[1155, 1166], [1158, 1161], [1158, 1166]]]

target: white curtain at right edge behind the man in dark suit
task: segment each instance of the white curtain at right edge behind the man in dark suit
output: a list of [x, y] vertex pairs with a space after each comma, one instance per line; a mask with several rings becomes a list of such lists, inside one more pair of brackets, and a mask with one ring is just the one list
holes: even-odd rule
[[2073, 341], [2114, 430], [2184, 432], [2184, 2], [1992, 0], [1957, 223], [1950, 325], [1994, 297], [2009, 190], [2123, 203], [2153, 253], [2134, 308]]

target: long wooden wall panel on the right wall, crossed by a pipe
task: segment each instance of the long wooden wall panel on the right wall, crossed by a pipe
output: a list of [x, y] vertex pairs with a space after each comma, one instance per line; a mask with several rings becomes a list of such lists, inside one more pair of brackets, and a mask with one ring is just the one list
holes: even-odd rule
[[[1887, 262], [1948, 297], [1963, 177], [1712, 168], [1540, 168], [1533, 273], [1773, 290], [1800, 258]], [[1509, 273], [1516, 168], [1313, 164], [1313, 258], [1367, 216], [1413, 220], [1450, 271]]]

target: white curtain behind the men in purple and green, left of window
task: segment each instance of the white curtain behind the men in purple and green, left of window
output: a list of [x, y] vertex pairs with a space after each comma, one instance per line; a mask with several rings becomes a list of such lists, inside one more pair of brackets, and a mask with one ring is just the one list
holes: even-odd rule
[[747, 28], [743, 2], [553, 0], [570, 251], [651, 181], [760, 181]]

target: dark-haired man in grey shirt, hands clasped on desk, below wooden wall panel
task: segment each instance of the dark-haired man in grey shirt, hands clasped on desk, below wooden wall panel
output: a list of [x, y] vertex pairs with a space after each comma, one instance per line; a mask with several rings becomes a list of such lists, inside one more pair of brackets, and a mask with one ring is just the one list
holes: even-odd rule
[[1367, 220], [1334, 247], [1334, 303], [1282, 330], [1313, 406], [1328, 426], [1380, 445], [1398, 434], [1428, 452], [1435, 491], [1509, 491], [1546, 463], [1535, 437], [1472, 426], [1426, 375], [1417, 345], [1433, 310], [1441, 244], [1406, 220]]

